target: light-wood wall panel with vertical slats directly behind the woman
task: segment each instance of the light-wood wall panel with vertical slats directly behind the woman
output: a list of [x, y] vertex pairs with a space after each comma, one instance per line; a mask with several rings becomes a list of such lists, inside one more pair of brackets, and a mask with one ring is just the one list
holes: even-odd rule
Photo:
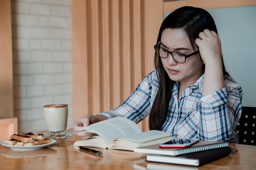
[[[77, 119], [117, 107], [154, 69], [153, 45], [163, 7], [159, 0], [151, 5], [145, 0], [71, 2], [73, 119]], [[139, 126], [147, 130], [148, 125]]]

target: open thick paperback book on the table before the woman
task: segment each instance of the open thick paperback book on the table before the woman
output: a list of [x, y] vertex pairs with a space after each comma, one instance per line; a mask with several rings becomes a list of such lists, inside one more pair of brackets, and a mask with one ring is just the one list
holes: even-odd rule
[[92, 132], [97, 136], [76, 141], [74, 146], [133, 151], [135, 147], [163, 144], [174, 138], [170, 133], [159, 130], [142, 132], [137, 124], [124, 117], [100, 121], [83, 129], [84, 132]]

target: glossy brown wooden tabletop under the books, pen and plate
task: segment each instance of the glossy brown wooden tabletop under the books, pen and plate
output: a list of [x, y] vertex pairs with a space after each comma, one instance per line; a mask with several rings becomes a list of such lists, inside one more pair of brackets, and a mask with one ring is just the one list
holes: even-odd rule
[[222, 159], [200, 167], [148, 163], [146, 154], [124, 150], [98, 149], [100, 157], [74, 147], [77, 136], [57, 139], [55, 144], [39, 150], [14, 151], [0, 145], [1, 170], [254, 170], [256, 146], [230, 144], [238, 150]]

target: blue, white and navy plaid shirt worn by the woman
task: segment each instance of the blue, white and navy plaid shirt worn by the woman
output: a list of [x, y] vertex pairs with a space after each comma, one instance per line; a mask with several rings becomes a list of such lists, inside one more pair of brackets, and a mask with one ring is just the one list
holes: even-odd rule
[[[177, 138], [238, 143], [235, 128], [242, 113], [240, 85], [225, 75], [225, 88], [202, 96], [203, 79], [204, 75], [187, 87], [180, 98], [179, 84], [174, 82], [169, 113], [162, 131]], [[149, 115], [157, 90], [157, 75], [153, 71], [120, 106], [99, 114], [109, 118], [123, 116], [138, 123]]]

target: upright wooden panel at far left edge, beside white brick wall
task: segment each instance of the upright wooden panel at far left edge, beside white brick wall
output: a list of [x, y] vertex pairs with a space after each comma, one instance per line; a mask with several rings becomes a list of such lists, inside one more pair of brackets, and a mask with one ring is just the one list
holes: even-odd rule
[[0, 0], [0, 117], [13, 117], [11, 1]]

